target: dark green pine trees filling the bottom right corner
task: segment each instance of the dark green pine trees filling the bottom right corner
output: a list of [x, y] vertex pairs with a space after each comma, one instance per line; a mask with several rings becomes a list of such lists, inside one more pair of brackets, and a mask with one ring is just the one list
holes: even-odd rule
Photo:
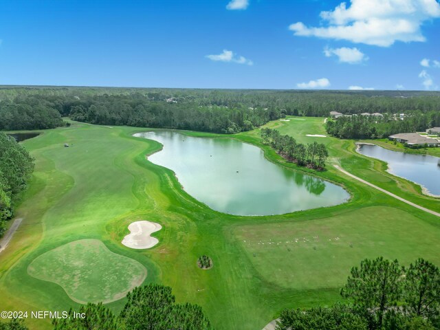
[[440, 271], [418, 259], [409, 267], [382, 257], [351, 269], [341, 295], [349, 305], [286, 309], [277, 330], [440, 329]]

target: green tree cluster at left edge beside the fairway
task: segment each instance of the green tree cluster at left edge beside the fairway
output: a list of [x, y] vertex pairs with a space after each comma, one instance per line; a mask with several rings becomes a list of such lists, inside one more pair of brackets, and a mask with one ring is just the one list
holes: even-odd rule
[[0, 237], [12, 217], [14, 197], [26, 188], [26, 179], [34, 170], [28, 151], [12, 137], [0, 132]]

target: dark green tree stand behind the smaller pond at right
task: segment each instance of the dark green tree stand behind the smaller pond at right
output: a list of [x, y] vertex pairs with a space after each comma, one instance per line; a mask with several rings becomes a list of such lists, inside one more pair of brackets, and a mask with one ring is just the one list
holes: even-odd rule
[[396, 133], [414, 133], [425, 131], [431, 127], [440, 126], [440, 111], [412, 113], [404, 120], [397, 120], [393, 116], [352, 115], [340, 117], [336, 120], [327, 120], [326, 129], [330, 135], [343, 139], [376, 139], [388, 137]]

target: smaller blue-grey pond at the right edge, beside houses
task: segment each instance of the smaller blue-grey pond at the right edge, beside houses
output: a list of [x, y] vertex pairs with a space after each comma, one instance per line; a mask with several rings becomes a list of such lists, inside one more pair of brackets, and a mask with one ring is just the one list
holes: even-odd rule
[[392, 151], [382, 146], [360, 145], [359, 152], [388, 163], [388, 172], [420, 184], [432, 195], [440, 195], [440, 158]]

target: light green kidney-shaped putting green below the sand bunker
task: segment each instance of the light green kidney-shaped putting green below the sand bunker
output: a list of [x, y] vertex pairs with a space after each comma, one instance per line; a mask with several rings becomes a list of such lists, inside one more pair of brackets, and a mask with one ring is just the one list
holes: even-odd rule
[[35, 278], [61, 285], [77, 303], [111, 303], [144, 282], [145, 267], [111, 252], [98, 239], [80, 239], [38, 256], [28, 267]]

